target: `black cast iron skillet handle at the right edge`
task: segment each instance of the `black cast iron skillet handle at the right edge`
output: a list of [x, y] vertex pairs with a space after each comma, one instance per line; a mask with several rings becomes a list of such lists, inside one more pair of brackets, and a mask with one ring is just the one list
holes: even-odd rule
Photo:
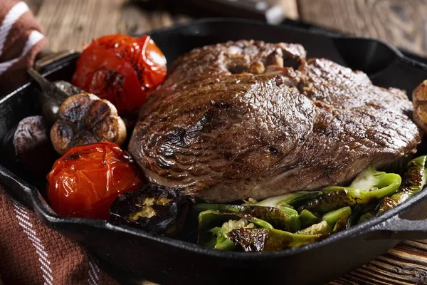
[[427, 219], [402, 219], [399, 216], [369, 229], [369, 239], [427, 239]]

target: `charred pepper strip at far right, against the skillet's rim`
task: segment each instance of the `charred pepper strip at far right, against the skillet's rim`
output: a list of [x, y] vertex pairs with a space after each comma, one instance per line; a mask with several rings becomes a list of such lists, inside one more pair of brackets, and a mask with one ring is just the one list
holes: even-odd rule
[[399, 190], [391, 197], [385, 197], [381, 204], [379, 204], [379, 209], [377, 214], [382, 214], [387, 210], [395, 207], [398, 204], [406, 201], [406, 199], [411, 198], [416, 193], [423, 190], [424, 185], [426, 185], [426, 162], [427, 156], [423, 155], [417, 157], [410, 162], [408, 162], [408, 169], [404, 174], [402, 184], [399, 187]]

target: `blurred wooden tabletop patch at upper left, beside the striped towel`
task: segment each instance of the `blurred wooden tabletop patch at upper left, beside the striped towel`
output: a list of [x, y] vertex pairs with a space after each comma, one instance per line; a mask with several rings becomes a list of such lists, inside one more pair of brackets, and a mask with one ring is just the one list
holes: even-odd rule
[[52, 51], [81, 51], [84, 43], [98, 36], [144, 33], [174, 22], [167, 12], [149, 14], [127, 0], [43, 1], [36, 19]]

